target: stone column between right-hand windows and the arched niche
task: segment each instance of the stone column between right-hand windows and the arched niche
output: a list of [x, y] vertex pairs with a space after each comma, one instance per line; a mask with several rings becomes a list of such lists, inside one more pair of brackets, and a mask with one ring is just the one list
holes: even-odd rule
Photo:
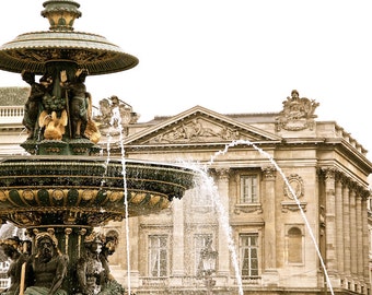
[[274, 166], [263, 167], [263, 192], [260, 202], [264, 211], [264, 285], [278, 285], [277, 271], [277, 223], [276, 223], [276, 184], [277, 170]]

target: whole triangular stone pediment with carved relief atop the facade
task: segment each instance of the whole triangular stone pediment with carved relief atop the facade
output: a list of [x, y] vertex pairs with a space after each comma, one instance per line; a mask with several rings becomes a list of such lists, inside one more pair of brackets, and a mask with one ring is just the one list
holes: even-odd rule
[[128, 137], [128, 145], [225, 144], [234, 140], [280, 141], [276, 134], [242, 123], [201, 106]]

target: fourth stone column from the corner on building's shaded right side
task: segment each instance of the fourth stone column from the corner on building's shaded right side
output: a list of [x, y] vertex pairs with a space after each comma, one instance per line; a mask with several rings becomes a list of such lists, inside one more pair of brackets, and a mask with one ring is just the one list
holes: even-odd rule
[[358, 249], [357, 249], [357, 208], [356, 208], [356, 188], [350, 190], [350, 255], [351, 259], [351, 275], [356, 276], [358, 271]]

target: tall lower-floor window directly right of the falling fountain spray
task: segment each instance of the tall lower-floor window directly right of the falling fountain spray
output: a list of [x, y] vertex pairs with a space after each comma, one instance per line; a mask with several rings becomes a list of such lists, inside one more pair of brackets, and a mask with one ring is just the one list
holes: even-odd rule
[[258, 276], [258, 234], [240, 235], [240, 259], [243, 280]]

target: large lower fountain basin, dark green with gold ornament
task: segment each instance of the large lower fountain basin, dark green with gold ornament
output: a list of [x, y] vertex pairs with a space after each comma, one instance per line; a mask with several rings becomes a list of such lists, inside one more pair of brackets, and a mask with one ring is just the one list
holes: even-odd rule
[[[94, 156], [18, 156], [0, 162], [0, 219], [19, 227], [97, 226], [156, 213], [194, 186], [172, 164]], [[126, 199], [125, 199], [126, 198]]]

